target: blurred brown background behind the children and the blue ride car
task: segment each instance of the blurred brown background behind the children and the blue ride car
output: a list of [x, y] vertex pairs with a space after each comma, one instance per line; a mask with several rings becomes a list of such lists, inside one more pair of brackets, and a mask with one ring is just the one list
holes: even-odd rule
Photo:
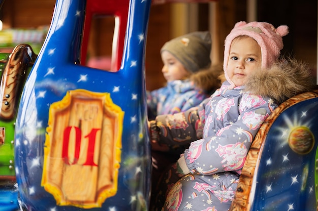
[[[0, 10], [0, 52], [11, 52], [16, 44], [28, 43], [39, 53], [51, 23], [55, 0], [5, 0]], [[176, 36], [208, 30], [212, 34], [211, 59], [223, 60], [224, 39], [238, 21], [287, 25], [282, 54], [317, 67], [316, 0], [153, 0], [146, 43], [147, 90], [160, 88], [165, 79], [160, 49]], [[87, 66], [109, 69], [115, 18], [96, 16], [89, 35]]]

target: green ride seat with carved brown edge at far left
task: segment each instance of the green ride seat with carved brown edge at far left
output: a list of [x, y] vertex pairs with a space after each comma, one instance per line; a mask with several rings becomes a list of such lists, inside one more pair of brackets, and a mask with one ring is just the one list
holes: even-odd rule
[[37, 55], [27, 44], [17, 45], [11, 54], [0, 54], [0, 184], [13, 185], [16, 181], [14, 125], [21, 92], [36, 58]]

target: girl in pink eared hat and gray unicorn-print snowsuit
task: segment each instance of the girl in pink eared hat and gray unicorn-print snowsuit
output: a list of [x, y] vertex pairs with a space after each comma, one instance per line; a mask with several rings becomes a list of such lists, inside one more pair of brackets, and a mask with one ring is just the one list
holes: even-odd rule
[[[198, 107], [150, 121], [157, 150], [183, 147], [152, 196], [150, 210], [230, 208], [246, 154], [260, 126], [283, 101], [313, 85], [309, 69], [279, 58], [287, 26], [238, 22], [225, 40], [222, 83]], [[157, 188], [157, 189], [156, 189]]]

